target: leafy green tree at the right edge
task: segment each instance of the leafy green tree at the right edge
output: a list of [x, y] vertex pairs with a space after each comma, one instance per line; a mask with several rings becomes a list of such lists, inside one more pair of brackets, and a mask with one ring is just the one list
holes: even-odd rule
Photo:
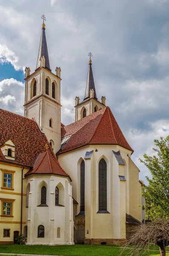
[[148, 185], [143, 185], [143, 197], [146, 199], [146, 218], [169, 219], [169, 136], [164, 139], [154, 140], [153, 148], [156, 155], [153, 157], [144, 154], [141, 163], [149, 169], [152, 178], [146, 176]]

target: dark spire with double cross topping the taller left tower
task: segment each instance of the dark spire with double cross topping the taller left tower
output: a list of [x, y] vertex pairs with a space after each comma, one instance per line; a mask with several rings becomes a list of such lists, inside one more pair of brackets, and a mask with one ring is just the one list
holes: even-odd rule
[[44, 15], [42, 15], [41, 18], [43, 19], [43, 24], [42, 24], [42, 34], [41, 34], [41, 38], [40, 38], [39, 53], [38, 53], [38, 56], [37, 56], [36, 70], [38, 68], [40, 68], [40, 57], [45, 56], [45, 67], [46, 67], [46, 69], [51, 71], [50, 64], [49, 64], [48, 47], [47, 47], [46, 35], [45, 35], [45, 23], [44, 23], [44, 20], [46, 20], [46, 17]]

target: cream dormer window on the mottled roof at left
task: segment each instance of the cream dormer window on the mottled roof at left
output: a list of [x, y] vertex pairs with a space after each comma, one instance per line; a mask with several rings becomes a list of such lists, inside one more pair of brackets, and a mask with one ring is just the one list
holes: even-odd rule
[[11, 140], [7, 140], [0, 149], [6, 159], [15, 160], [15, 145]]

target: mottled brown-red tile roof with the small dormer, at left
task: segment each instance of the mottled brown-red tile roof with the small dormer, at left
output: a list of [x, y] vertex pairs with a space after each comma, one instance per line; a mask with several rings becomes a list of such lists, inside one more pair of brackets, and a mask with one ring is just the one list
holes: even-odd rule
[[[34, 120], [0, 109], [0, 146], [4, 145], [7, 140], [11, 140], [15, 145], [15, 160], [5, 159], [1, 150], [0, 160], [33, 167], [35, 161], [37, 164], [40, 157], [46, 154], [44, 153], [46, 152], [45, 145], [48, 144], [52, 172], [69, 176], [61, 168], [46, 136], [40, 131]], [[46, 169], [46, 172], [49, 172], [49, 170]]]

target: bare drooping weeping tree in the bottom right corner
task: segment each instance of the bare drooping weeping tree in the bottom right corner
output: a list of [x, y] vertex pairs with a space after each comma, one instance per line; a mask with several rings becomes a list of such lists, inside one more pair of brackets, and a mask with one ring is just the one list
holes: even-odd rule
[[[129, 256], [145, 255], [150, 245], [158, 245], [160, 256], [166, 256], [166, 246], [169, 245], [169, 220], [156, 219], [148, 224], [137, 226], [125, 244], [121, 255], [124, 251], [125, 255]], [[129, 247], [131, 249], [126, 251], [126, 248]]]

